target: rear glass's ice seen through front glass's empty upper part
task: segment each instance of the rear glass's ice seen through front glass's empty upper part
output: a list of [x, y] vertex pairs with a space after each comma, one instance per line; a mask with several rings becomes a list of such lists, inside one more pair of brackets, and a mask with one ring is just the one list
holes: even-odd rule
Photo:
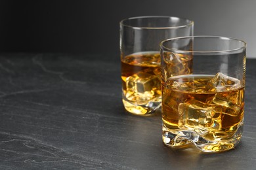
[[188, 62], [191, 58], [185, 58], [173, 52], [165, 52], [163, 54], [165, 79], [171, 76], [187, 75], [190, 73]]

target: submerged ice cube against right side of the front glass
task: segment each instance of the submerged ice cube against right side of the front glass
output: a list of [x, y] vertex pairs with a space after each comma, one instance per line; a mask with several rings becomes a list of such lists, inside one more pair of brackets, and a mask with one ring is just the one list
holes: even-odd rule
[[223, 114], [238, 116], [241, 105], [244, 102], [244, 91], [235, 90], [233, 92], [217, 93], [213, 97], [213, 103], [223, 107]]

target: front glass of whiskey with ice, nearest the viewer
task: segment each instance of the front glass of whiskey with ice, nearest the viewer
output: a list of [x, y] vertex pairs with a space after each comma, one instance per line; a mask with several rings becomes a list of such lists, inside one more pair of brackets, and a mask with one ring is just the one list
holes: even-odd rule
[[203, 152], [234, 148], [244, 124], [245, 42], [190, 36], [160, 47], [163, 143]]

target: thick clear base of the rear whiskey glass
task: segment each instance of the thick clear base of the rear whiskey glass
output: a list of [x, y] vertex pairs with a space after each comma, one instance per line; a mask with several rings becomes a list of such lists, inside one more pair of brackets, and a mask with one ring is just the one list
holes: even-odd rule
[[140, 116], [152, 116], [155, 114], [156, 109], [161, 107], [161, 98], [154, 99], [146, 104], [139, 105], [132, 103], [127, 99], [123, 99], [123, 106], [128, 112]]

